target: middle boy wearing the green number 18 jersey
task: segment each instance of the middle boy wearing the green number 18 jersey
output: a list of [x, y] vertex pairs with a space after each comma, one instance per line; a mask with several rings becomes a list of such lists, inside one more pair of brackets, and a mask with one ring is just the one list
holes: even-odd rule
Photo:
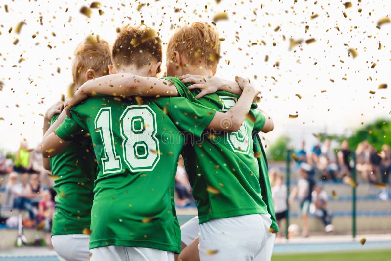
[[[164, 80], [147, 77], [155, 77], [161, 64], [161, 45], [152, 29], [123, 28], [112, 61], [110, 73], [145, 76], [128, 95], [161, 92], [154, 86]], [[164, 87], [165, 96], [182, 91], [174, 85]], [[81, 132], [92, 138], [98, 160], [91, 211], [92, 260], [128, 256], [132, 260], [174, 260], [173, 252], [180, 251], [174, 175], [184, 142], [175, 124], [200, 137], [205, 129], [227, 129], [220, 122], [228, 119], [232, 123], [228, 130], [235, 131], [256, 94], [253, 87], [246, 87], [237, 105], [225, 113], [180, 97], [129, 101], [95, 96], [72, 109], [72, 118], [66, 118], [55, 132], [56, 126], [51, 127], [42, 142], [46, 157], [58, 153]]]

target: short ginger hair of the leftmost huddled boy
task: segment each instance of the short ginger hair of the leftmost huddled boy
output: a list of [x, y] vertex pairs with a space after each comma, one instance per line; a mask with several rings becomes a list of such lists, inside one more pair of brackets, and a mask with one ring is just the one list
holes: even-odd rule
[[74, 83], [80, 82], [80, 75], [93, 69], [103, 75], [109, 74], [111, 64], [109, 44], [98, 37], [90, 36], [75, 49], [75, 58], [72, 63], [72, 77]]

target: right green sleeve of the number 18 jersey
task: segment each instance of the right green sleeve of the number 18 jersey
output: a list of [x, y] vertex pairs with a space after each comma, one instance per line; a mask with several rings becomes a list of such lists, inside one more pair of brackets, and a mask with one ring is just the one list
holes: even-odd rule
[[191, 102], [187, 98], [172, 97], [169, 99], [167, 114], [173, 123], [179, 129], [200, 137], [215, 116], [216, 110]]

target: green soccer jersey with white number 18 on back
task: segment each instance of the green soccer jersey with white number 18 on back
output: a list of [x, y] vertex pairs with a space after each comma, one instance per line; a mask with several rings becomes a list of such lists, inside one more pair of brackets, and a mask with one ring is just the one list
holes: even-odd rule
[[186, 98], [121, 100], [96, 96], [71, 109], [56, 130], [73, 140], [80, 129], [91, 135], [98, 161], [91, 213], [90, 248], [108, 245], [180, 252], [174, 205], [177, 162], [184, 143], [166, 115], [200, 136], [214, 111]]

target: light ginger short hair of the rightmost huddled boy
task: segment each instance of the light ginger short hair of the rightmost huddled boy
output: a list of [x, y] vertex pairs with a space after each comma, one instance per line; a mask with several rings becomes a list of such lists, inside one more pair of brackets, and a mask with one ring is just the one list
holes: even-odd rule
[[216, 70], [220, 58], [221, 44], [215, 26], [206, 22], [193, 22], [179, 28], [170, 38], [167, 58], [174, 59], [174, 51], [184, 54], [192, 65], [206, 64]]

